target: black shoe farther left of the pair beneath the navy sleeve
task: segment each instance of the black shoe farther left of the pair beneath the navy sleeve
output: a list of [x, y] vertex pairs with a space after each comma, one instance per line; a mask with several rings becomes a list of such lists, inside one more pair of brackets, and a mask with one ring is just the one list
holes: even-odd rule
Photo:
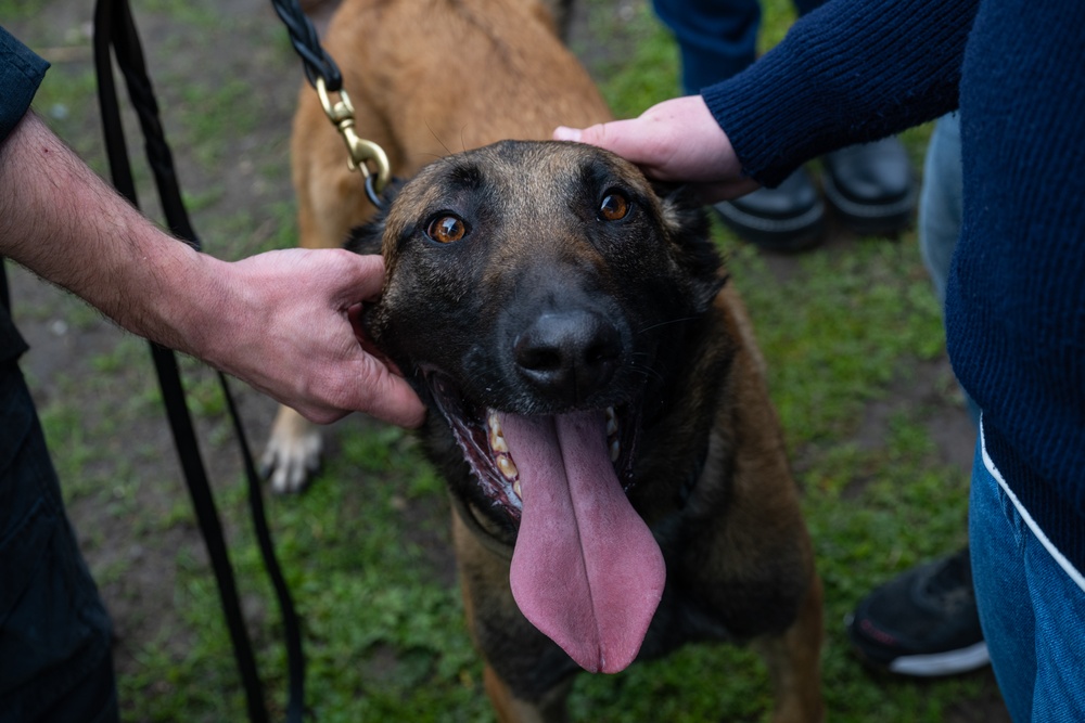
[[740, 238], [770, 251], [801, 251], [825, 235], [825, 204], [802, 168], [775, 189], [757, 189], [715, 209]]

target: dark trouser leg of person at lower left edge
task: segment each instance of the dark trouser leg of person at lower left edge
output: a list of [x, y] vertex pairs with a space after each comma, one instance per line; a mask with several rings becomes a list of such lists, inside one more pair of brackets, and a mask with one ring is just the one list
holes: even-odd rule
[[34, 402], [0, 360], [0, 723], [118, 720], [111, 642]]

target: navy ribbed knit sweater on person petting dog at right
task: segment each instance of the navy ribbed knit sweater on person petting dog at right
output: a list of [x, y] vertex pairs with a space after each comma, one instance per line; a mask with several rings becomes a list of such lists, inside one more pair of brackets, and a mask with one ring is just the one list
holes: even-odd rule
[[1085, 572], [1085, 2], [834, 0], [702, 95], [767, 185], [959, 107], [949, 358], [1001, 476]]

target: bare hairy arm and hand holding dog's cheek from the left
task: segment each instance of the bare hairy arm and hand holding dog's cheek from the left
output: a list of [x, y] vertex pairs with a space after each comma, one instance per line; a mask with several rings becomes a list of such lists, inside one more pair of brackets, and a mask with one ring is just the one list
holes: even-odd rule
[[380, 257], [290, 249], [228, 263], [199, 254], [31, 114], [0, 145], [0, 254], [314, 422], [359, 410], [421, 423], [418, 397], [362, 350], [349, 319], [380, 292]]

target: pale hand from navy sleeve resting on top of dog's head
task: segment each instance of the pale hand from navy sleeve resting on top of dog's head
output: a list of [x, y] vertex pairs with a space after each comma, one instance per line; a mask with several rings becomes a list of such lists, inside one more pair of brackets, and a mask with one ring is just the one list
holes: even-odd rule
[[612, 151], [651, 178], [689, 183], [704, 202], [735, 198], [757, 188], [742, 176], [730, 139], [700, 95], [664, 101], [638, 118], [585, 129], [560, 127], [553, 139]]

